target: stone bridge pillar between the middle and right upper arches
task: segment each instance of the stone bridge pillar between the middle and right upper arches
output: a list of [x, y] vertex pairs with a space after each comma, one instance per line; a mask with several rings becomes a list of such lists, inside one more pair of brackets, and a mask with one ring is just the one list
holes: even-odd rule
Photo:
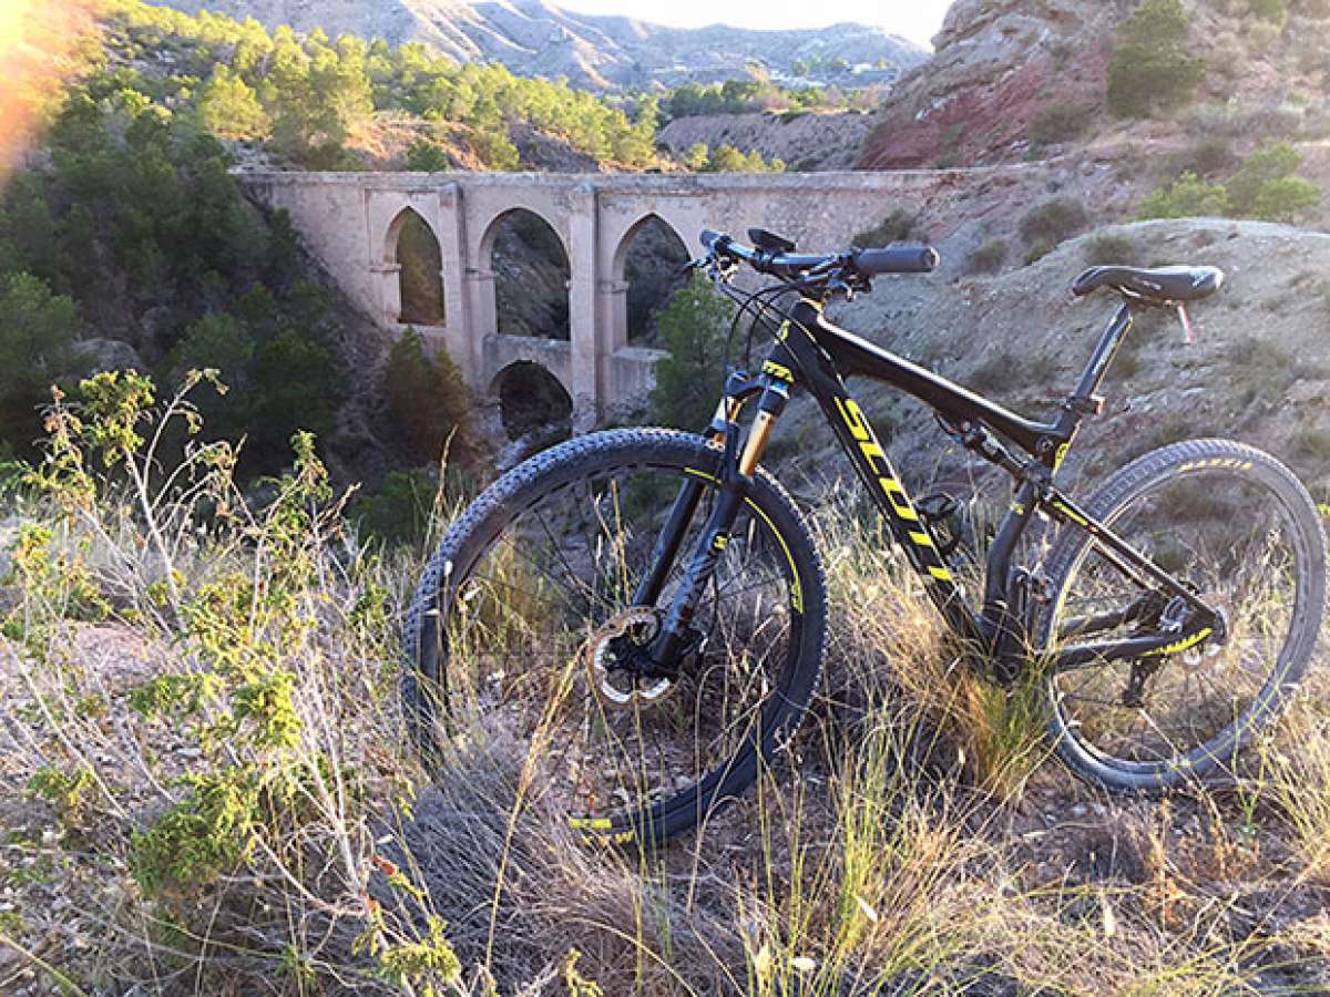
[[573, 429], [595, 427], [601, 415], [600, 323], [596, 300], [596, 190], [579, 183], [569, 197], [568, 332], [572, 340]]

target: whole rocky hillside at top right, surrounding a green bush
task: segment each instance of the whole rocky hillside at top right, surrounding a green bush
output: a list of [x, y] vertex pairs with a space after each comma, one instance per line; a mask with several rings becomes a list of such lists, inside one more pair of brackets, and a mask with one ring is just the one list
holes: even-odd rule
[[[1105, 96], [1130, 0], [958, 0], [936, 55], [884, 101], [859, 165], [1017, 162], [1067, 148], [1177, 154], [1189, 141], [1323, 136], [1330, 4], [1184, 0], [1194, 100], [1124, 120]], [[1242, 152], [1240, 148], [1238, 152]]]

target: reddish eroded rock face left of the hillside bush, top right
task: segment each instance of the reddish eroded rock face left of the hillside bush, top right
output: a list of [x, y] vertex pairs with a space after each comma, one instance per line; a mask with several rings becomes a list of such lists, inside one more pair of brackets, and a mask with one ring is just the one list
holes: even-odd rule
[[859, 166], [1020, 158], [1045, 108], [1100, 108], [1121, 13], [1117, 3], [1087, 0], [959, 0], [934, 39], [932, 61], [887, 101]]

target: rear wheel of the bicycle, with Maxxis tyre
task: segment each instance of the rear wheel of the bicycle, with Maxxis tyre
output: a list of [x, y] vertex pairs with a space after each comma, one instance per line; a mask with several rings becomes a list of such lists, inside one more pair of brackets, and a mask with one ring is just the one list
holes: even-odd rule
[[[1274, 457], [1226, 440], [1192, 440], [1119, 471], [1087, 510], [1222, 614], [1194, 647], [1097, 661], [1047, 679], [1049, 732], [1077, 775], [1113, 790], [1228, 778], [1238, 750], [1278, 715], [1315, 649], [1325, 610], [1326, 541], [1315, 504]], [[1146, 590], [1083, 530], [1048, 557], [1043, 646], [1166, 633], [1181, 600]], [[1142, 597], [1146, 597], [1142, 601]], [[1152, 606], [1116, 627], [1072, 621]]]

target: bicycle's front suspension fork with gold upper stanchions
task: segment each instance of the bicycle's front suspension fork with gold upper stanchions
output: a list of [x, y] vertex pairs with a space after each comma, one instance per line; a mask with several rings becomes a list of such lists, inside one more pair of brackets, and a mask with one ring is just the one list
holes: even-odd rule
[[[743, 400], [758, 392], [761, 392], [758, 412], [743, 443], [743, 449], [739, 452], [738, 425], [734, 421], [734, 416], [737, 416], [738, 407], [742, 405]], [[702, 528], [701, 537], [698, 538], [697, 549], [688, 562], [682, 582], [670, 601], [665, 621], [650, 649], [653, 666], [660, 674], [674, 674], [680, 654], [689, 645], [689, 626], [697, 613], [697, 604], [701, 601], [706, 585], [716, 573], [721, 554], [729, 544], [730, 530], [751, 488], [753, 473], [757, 471], [758, 460], [761, 460], [766, 449], [766, 444], [771, 437], [771, 428], [781, 412], [785, 411], [789, 397], [790, 393], [786, 384], [767, 375], [762, 375], [755, 382], [747, 382], [732, 375], [726, 386], [726, 397], [722, 403], [725, 413], [725, 457], [721, 463], [720, 488], [717, 489], [712, 513], [708, 516], [706, 525]], [[720, 415], [720, 411], [717, 415]], [[682, 546], [684, 536], [688, 533], [688, 525], [697, 512], [704, 487], [701, 481], [688, 481], [681, 487], [678, 496], [674, 498], [674, 505], [670, 508], [665, 528], [656, 541], [652, 570], [638, 586], [638, 598], [634, 600], [637, 605], [653, 605], [656, 597], [660, 596], [660, 589], [664, 586], [665, 578], [669, 576]], [[641, 597], [644, 596], [650, 596], [652, 598], [642, 601]]]

